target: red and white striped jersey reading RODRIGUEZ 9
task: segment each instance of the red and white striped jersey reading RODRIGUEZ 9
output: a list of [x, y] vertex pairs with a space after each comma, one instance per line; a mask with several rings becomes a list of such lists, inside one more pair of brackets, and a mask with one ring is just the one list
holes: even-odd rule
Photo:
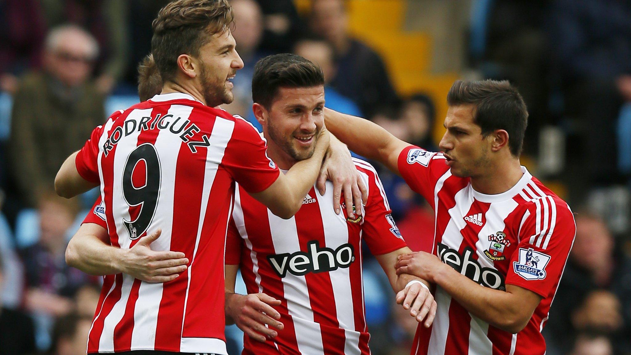
[[156, 95], [96, 128], [76, 167], [100, 182], [112, 245], [131, 248], [160, 228], [151, 248], [190, 260], [165, 284], [105, 277], [88, 352], [227, 354], [223, 253], [235, 181], [254, 193], [280, 174], [256, 129], [190, 95]]

